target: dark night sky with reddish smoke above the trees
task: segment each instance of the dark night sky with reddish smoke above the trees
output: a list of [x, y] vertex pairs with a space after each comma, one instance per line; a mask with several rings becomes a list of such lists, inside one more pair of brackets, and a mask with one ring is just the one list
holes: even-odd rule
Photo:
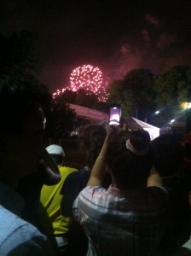
[[191, 67], [190, 0], [1, 0], [0, 32], [23, 29], [40, 36], [40, 79], [52, 92], [84, 64], [99, 67], [104, 84], [133, 68]]

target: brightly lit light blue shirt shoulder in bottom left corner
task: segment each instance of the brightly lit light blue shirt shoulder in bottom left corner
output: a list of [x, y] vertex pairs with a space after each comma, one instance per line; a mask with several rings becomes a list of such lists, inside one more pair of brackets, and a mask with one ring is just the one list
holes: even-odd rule
[[37, 228], [2, 206], [0, 206], [0, 230], [0, 254], [4, 255], [16, 250], [15, 255], [19, 255], [17, 254], [19, 251], [33, 252], [39, 248], [44, 255], [43, 248], [49, 247], [46, 236], [43, 236]]

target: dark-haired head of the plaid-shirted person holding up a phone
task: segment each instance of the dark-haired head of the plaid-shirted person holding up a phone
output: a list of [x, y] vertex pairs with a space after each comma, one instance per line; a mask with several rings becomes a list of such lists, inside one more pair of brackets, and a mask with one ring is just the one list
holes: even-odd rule
[[145, 186], [153, 164], [148, 131], [121, 131], [109, 145], [106, 160], [119, 189]]

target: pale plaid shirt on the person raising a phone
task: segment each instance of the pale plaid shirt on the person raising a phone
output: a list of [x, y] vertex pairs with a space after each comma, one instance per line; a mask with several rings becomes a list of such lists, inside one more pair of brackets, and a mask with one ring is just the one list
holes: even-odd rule
[[86, 187], [73, 215], [89, 237], [87, 255], [159, 255], [168, 193], [160, 187], [120, 190]]

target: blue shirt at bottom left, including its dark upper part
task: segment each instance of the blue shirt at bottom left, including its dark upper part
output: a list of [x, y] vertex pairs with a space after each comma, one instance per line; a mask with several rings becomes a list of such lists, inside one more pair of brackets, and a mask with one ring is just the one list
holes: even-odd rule
[[0, 255], [55, 255], [47, 237], [19, 217], [23, 207], [20, 195], [0, 182]]

